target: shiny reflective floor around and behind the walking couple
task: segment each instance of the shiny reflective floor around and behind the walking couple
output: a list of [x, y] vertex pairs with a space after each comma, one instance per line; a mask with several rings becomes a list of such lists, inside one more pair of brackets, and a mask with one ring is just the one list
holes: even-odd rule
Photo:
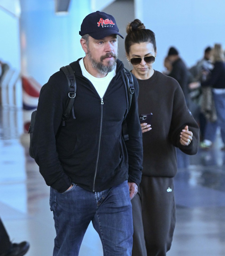
[[[13, 242], [30, 242], [27, 256], [50, 256], [55, 229], [49, 187], [28, 154], [28, 143], [23, 111], [0, 109], [0, 216]], [[208, 151], [199, 149], [188, 159], [178, 151], [177, 223], [168, 256], [225, 255], [225, 152], [221, 146], [218, 133]], [[103, 256], [92, 225], [79, 254], [87, 255]]]

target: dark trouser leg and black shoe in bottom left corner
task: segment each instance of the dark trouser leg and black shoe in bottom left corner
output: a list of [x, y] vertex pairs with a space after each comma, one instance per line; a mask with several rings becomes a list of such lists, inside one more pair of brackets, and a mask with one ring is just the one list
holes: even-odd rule
[[0, 256], [23, 256], [29, 247], [27, 241], [12, 243], [0, 218]]

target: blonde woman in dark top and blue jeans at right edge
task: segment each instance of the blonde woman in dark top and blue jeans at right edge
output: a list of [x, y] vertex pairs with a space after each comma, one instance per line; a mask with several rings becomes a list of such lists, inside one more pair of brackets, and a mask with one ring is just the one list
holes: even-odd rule
[[[191, 88], [201, 86], [212, 87], [212, 96], [214, 100], [217, 121], [206, 124], [204, 140], [200, 143], [203, 149], [208, 149], [216, 139], [216, 128], [220, 127], [222, 141], [225, 145], [225, 58], [222, 45], [215, 44], [211, 53], [211, 61], [214, 64], [211, 75], [204, 82], [194, 82], [190, 84]], [[224, 150], [225, 147], [222, 147]]]

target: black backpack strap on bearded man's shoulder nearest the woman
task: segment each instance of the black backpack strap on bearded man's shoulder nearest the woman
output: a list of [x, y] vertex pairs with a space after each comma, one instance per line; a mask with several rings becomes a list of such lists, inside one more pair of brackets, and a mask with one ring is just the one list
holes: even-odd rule
[[[130, 110], [131, 101], [134, 93], [134, 81], [133, 81], [133, 76], [128, 69], [124, 68], [122, 73], [124, 75], [126, 89], [127, 89], [127, 96], [128, 96], [128, 108], [126, 112], [126, 115], [127, 115]], [[125, 115], [125, 118], [126, 118], [126, 115]], [[125, 118], [124, 118], [124, 121], [122, 122], [122, 135], [123, 135], [124, 141], [129, 139]]]

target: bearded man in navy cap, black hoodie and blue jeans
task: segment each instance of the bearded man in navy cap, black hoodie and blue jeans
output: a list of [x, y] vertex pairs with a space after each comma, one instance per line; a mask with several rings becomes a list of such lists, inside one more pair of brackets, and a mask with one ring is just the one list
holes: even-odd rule
[[71, 63], [77, 84], [72, 114], [61, 126], [68, 83], [59, 71], [40, 93], [32, 138], [35, 161], [51, 186], [53, 255], [78, 256], [91, 221], [104, 255], [131, 255], [130, 199], [137, 193], [142, 170], [138, 83], [133, 77], [135, 91], [126, 116], [129, 140], [124, 141], [127, 91], [124, 65], [117, 59], [117, 35], [122, 36], [116, 21], [104, 12], [91, 13], [79, 34], [85, 57]]

